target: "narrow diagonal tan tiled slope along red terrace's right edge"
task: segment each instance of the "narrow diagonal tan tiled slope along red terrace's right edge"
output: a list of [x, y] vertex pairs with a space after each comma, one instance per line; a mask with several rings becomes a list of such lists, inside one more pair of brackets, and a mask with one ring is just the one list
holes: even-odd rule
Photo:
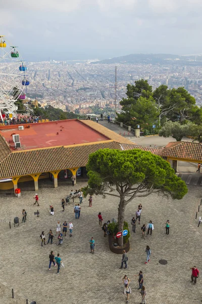
[[100, 134], [103, 134], [107, 136], [109, 139], [113, 139], [114, 141], [121, 142], [121, 143], [128, 143], [128, 144], [135, 144], [133, 141], [115, 133], [114, 131], [109, 130], [108, 128], [97, 124], [90, 120], [80, 120], [81, 123], [89, 126], [91, 129], [94, 129], [95, 131], [99, 132]]

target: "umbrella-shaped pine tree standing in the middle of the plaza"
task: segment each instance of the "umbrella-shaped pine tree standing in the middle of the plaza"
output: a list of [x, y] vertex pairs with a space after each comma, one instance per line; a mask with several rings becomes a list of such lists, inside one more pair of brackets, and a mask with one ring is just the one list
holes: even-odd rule
[[[139, 149], [100, 149], [89, 156], [86, 169], [89, 179], [83, 188], [84, 196], [90, 193], [116, 197], [119, 231], [123, 230], [125, 208], [134, 198], [161, 192], [180, 200], [187, 193], [185, 182], [167, 161]], [[123, 238], [119, 245], [123, 246]]]

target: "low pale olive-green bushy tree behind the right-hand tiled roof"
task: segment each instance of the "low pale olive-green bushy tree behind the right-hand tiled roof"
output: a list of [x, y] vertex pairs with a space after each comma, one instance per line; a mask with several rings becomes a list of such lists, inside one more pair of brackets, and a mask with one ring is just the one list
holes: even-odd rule
[[180, 122], [166, 122], [162, 129], [159, 131], [159, 136], [169, 137], [172, 136], [177, 141], [181, 141], [182, 137], [192, 135], [193, 126], [191, 122], [181, 125]]

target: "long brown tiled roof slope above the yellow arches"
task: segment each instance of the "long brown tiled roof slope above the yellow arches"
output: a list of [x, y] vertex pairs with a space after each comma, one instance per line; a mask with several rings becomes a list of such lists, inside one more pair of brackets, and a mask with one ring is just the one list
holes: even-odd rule
[[16, 151], [0, 163], [0, 178], [84, 167], [91, 153], [105, 148], [121, 149], [118, 142], [109, 140], [94, 144]]

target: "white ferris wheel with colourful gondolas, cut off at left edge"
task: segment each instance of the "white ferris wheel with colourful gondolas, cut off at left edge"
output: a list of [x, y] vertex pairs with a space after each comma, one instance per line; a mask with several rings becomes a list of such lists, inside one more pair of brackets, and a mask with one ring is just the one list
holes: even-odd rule
[[27, 67], [16, 46], [0, 35], [0, 118], [2, 111], [17, 117], [17, 100], [25, 99], [23, 90], [29, 85]]

